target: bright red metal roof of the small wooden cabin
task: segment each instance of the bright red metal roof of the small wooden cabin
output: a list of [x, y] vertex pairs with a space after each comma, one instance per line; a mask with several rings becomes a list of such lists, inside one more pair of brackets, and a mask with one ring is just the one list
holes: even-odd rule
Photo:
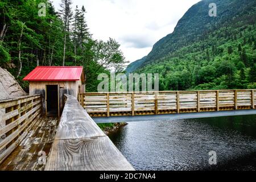
[[[82, 76], [82, 77], [81, 77]], [[82, 67], [36, 67], [24, 81], [76, 81], [84, 80]]]

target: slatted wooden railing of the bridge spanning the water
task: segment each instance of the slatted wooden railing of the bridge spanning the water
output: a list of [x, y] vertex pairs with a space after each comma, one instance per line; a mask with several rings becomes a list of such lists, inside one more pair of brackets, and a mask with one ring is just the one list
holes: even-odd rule
[[256, 108], [256, 90], [80, 93], [92, 117], [225, 111]]

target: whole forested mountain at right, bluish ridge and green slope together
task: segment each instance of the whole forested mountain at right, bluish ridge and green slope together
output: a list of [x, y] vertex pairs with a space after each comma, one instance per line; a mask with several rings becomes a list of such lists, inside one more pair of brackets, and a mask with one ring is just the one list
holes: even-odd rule
[[256, 1], [200, 1], [126, 71], [159, 73], [160, 90], [256, 88], [255, 22]]

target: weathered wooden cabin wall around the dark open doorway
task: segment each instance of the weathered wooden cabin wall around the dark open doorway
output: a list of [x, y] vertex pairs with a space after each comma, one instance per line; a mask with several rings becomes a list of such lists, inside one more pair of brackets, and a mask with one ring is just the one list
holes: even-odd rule
[[46, 113], [46, 85], [60, 86], [60, 111], [64, 108], [64, 94], [69, 94], [77, 98], [79, 93], [79, 83], [81, 81], [31, 81], [30, 95], [42, 94], [43, 96], [43, 113]]

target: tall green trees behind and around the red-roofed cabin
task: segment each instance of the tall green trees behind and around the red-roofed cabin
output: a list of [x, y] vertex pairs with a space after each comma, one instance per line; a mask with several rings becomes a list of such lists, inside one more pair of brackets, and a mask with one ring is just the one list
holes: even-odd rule
[[[85, 7], [73, 3], [61, 0], [56, 10], [47, 0], [0, 1], [0, 67], [24, 90], [28, 91], [28, 82], [22, 79], [38, 65], [82, 65], [87, 92], [97, 90], [99, 73], [124, 69], [118, 42], [93, 39]], [[45, 16], [41, 16], [44, 7]]]

